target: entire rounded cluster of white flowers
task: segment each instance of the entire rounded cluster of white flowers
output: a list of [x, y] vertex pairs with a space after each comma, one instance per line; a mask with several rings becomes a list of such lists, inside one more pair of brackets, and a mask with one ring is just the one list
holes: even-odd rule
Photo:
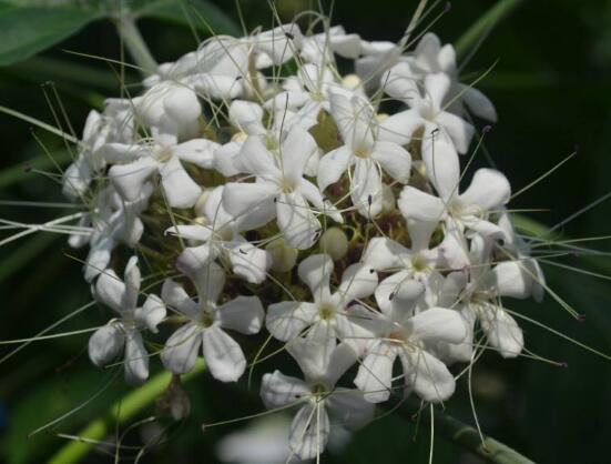
[[[452, 46], [432, 33], [406, 51], [285, 24], [214, 37], [139, 97], [92, 111], [64, 193], [89, 208], [93, 232], [71, 244], [89, 245], [85, 279], [119, 314], [91, 337], [93, 363], [124, 353], [126, 381], [144, 381], [142, 333], [163, 323], [175, 327], [156, 352], [166, 370], [203, 354], [233, 382], [248, 364], [236, 333], [265, 326], [304, 380], [265, 374], [261, 395], [299, 406], [289, 444], [305, 460], [325, 448], [329, 416], [363, 426], [397, 389], [446, 401], [448, 365], [476, 345], [517, 356], [503, 299], [540, 300], [543, 276], [505, 175], [479, 169], [459, 186], [470, 118], [496, 111], [457, 79]], [[136, 255], [163, 281], [142, 306]]]

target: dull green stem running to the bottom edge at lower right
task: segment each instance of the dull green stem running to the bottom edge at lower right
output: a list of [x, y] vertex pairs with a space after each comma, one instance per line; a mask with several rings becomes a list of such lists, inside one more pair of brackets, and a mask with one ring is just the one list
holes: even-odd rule
[[[415, 412], [419, 408], [418, 406], [419, 403], [415, 400], [408, 400], [407, 406], [401, 407], [399, 411], [404, 417], [409, 417], [409, 420], [413, 420]], [[490, 436], [485, 436], [482, 442], [476, 428], [441, 411], [436, 411], [434, 413], [434, 420], [436, 435], [441, 436], [451, 444], [470, 451], [472, 454], [482, 457], [488, 463], [534, 464], [516, 450], [510, 448], [506, 444]], [[430, 415], [426, 411], [421, 412], [420, 422], [430, 424]]]

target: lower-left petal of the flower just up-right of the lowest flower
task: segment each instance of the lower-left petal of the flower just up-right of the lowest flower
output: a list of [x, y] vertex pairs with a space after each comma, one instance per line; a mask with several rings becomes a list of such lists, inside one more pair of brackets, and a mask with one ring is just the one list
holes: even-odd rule
[[363, 360], [354, 382], [368, 402], [380, 403], [390, 397], [396, 356], [388, 344], [378, 342]]

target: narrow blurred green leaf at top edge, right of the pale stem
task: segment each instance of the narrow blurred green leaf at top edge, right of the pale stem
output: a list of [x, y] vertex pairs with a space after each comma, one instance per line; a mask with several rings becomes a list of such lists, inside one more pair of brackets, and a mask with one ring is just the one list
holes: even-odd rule
[[205, 0], [155, 0], [143, 2], [141, 8], [132, 10], [143, 18], [156, 18], [186, 24], [206, 34], [242, 34], [236, 23], [215, 4]]

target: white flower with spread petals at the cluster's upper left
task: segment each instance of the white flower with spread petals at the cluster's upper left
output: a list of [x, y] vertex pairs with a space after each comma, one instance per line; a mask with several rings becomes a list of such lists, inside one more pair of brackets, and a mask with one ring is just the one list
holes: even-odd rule
[[161, 176], [164, 198], [172, 208], [189, 208], [202, 194], [202, 189], [189, 175], [181, 161], [201, 168], [213, 167], [213, 150], [217, 145], [205, 139], [192, 139], [176, 144], [172, 135], [157, 137], [135, 144], [109, 143], [104, 155], [121, 160], [109, 170], [109, 178], [126, 201], [134, 201], [142, 185], [154, 174]]

